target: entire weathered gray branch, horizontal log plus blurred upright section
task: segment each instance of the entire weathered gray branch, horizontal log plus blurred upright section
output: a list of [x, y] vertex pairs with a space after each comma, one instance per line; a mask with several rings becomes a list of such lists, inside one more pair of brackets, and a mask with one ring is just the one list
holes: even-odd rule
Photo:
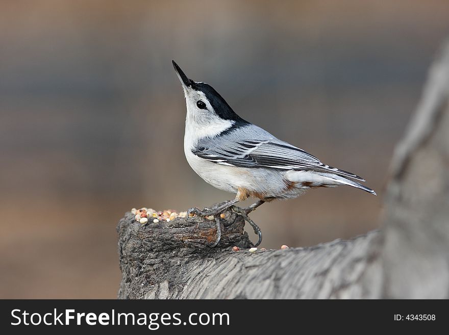
[[448, 298], [449, 43], [394, 152], [381, 230], [251, 253], [244, 221], [230, 211], [216, 248], [215, 221], [133, 218], [117, 226], [122, 299]]

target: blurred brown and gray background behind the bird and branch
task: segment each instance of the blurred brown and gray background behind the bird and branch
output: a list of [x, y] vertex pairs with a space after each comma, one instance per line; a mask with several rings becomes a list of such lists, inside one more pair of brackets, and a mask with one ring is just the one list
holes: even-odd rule
[[444, 0], [0, 2], [0, 297], [114, 298], [124, 212], [233, 197], [185, 161], [171, 59], [379, 194], [340, 187], [264, 205], [253, 214], [263, 247], [376, 228], [448, 17]]

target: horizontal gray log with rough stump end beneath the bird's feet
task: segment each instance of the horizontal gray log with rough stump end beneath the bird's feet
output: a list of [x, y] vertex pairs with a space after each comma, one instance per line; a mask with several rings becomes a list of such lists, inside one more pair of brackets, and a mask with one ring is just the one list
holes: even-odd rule
[[253, 254], [231, 250], [250, 247], [241, 221], [223, 227], [219, 246], [210, 248], [214, 221], [178, 218], [142, 226], [133, 219], [127, 213], [118, 225], [120, 298], [344, 297], [376, 256], [369, 248], [379, 239], [372, 232], [351, 241]]

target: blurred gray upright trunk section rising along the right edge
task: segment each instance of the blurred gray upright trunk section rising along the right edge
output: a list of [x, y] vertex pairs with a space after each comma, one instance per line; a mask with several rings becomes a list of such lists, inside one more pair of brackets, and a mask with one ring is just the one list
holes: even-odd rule
[[382, 296], [449, 297], [449, 41], [392, 160]]

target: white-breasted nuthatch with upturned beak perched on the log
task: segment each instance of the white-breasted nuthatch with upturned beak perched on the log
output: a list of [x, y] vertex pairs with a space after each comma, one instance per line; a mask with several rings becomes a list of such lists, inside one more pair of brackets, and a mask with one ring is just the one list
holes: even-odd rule
[[[295, 198], [316, 187], [352, 186], [371, 194], [358, 175], [321, 163], [315, 156], [281, 141], [238, 116], [210, 85], [187, 78], [172, 61], [181, 81], [187, 105], [184, 152], [191, 168], [210, 185], [236, 193], [235, 199], [214, 209], [190, 209], [188, 213], [214, 215], [217, 241], [221, 236], [219, 214], [229, 208], [243, 215], [259, 235], [259, 227], [247, 214], [266, 201]], [[259, 200], [246, 209], [235, 206], [248, 197]], [[218, 216], [217, 216], [218, 215]]]

